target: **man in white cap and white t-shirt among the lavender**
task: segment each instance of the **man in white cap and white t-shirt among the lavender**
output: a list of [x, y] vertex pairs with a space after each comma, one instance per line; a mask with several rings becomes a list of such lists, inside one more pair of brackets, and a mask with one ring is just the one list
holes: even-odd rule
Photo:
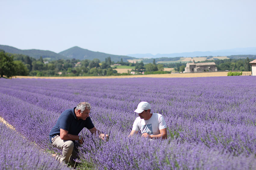
[[133, 123], [133, 129], [129, 136], [140, 130], [145, 138], [167, 139], [166, 123], [162, 115], [150, 112], [151, 106], [148, 102], [140, 102], [134, 111], [139, 114]]

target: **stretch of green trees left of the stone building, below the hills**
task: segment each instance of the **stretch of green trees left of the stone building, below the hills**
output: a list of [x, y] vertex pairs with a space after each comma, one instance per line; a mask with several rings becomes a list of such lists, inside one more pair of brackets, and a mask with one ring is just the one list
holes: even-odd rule
[[113, 64], [127, 65], [135, 67], [136, 74], [150, 73], [170, 73], [164, 72], [162, 64], [143, 64], [143, 62], [129, 63], [118, 61], [114, 63], [111, 58], [105, 58], [100, 61], [95, 58], [93, 60], [78, 59], [59, 59], [54, 61], [32, 58], [28, 55], [0, 52], [0, 73], [1, 77], [10, 78], [12, 76], [111, 76], [111, 75], [130, 75], [127, 73], [117, 73], [111, 66]]

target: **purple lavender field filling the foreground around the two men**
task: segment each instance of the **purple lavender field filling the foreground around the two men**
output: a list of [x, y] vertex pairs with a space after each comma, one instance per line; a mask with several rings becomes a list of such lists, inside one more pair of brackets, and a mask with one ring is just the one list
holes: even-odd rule
[[[50, 130], [64, 110], [87, 101], [95, 127], [110, 138], [102, 141], [86, 129], [81, 132], [85, 143], [80, 147], [80, 169], [256, 169], [253, 76], [0, 79], [0, 87], [0, 116], [26, 138], [10, 143], [10, 132], [0, 124], [0, 167], [8, 167], [6, 155], [16, 156], [28, 143], [37, 146], [36, 153], [59, 152], [49, 143]], [[128, 137], [140, 101], [164, 116], [167, 140]], [[46, 159], [50, 154], [37, 155]], [[30, 164], [41, 161], [32, 158]], [[57, 163], [50, 158], [45, 162]]]

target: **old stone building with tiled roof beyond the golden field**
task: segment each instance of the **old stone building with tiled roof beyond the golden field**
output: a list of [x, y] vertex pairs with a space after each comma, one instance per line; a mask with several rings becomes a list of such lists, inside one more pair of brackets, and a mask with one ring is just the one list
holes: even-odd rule
[[185, 73], [204, 72], [204, 71], [217, 71], [216, 64], [214, 62], [209, 63], [187, 63], [185, 67]]

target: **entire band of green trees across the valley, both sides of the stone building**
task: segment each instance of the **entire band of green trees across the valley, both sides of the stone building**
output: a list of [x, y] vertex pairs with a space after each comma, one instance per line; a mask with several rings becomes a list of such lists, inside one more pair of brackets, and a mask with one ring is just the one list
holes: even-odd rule
[[[207, 60], [201, 62], [215, 62], [219, 71], [236, 70], [236, 71], [251, 71], [250, 61], [253, 58], [246, 59], [224, 59], [224, 60]], [[111, 75], [130, 75], [127, 73], [117, 73], [111, 66], [113, 64], [126, 65], [135, 67], [133, 70], [136, 74], [162, 74], [170, 73], [164, 71], [164, 67], [174, 68], [177, 72], [183, 72], [186, 63], [170, 63], [156, 64], [155, 59], [152, 63], [144, 64], [143, 61], [129, 63], [121, 61], [113, 62], [111, 58], [105, 58], [105, 61], [100, 61], [95, 58], [93, 60], [78, 60], [78, 59], [59, 59], [54, 61], [32, 58], [28, 55], [6, 53], [0, 50], [0, 75], [7, 78], [12, 76], [111, 76]]]

